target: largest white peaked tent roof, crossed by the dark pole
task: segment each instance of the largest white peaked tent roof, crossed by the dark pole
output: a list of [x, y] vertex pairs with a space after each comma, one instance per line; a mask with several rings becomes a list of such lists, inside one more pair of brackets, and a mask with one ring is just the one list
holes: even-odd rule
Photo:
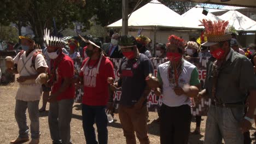
[[[129, 20], [129, 27], [159, 26], [159, 27], [183, 27], [181, 25], [182, 16], [175, 13], [170, 8], [157, 0], [153, 0], [143, 7], [134, 11]], [[121, 27], [122, 19], [107, 27]]]

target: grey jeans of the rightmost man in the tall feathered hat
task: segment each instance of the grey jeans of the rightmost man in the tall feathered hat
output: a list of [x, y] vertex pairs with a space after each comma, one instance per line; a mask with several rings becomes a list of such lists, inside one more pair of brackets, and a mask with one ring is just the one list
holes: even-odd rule
[[224, 139], [225, 144], [243, 143], [243, 133], [240, 122], [243, 119], [244, 107], [210, 106], [207, 113], [205, 144], [219, 144]]

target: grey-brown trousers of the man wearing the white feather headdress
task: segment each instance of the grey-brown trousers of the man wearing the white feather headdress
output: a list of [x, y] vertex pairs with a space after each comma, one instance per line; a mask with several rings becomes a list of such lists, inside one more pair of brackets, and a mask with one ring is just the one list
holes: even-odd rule
[[71, 143], [70, 122], [74, 99], [63, 99], [50, 103], [49, 128], [53, 143]]

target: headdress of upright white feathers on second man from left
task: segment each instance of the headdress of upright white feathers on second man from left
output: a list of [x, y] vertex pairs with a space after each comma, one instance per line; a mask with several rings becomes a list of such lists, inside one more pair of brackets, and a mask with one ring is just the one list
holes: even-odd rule
[[44, 41], [47, 46], [49, 47], [55, 47], [55, 48], [62, 48], [67, 44], [66, 40], [63, 40], [63, 38], [58, 37], [50, 37], [50, 29], [44, 29]]

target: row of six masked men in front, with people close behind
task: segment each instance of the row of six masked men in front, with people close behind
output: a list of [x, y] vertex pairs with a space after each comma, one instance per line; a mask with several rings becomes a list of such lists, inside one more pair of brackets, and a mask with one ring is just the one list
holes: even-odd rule
[[[147, 95], [151, 91], [162, 95], [159, 111], [161, 144], [188, 143], [190, 99], [205, 95], [212, 99], [206, 121], [205, 143], [218, 144], [222, 139], [225, 143], [244, 143], [244, 134], [254, 123], [256, 81], [253, 64], [239, 51], [233, 50], [232, 36], [226, 31], [227, 23], [203, 20], [207, 41], [201, 43], [200, 48], [196, 42], [185, 43], [184, 39], [176, 35], [170, 35], [166, 45], [156, 45], [156, 55], [168, 61], [158, 66], [154, 88], [149, 83], [149, 76], [154, 73], [150, 60], [152, 55], [147, 49], [150, 39], [144, 35], [135, 38], [113, 34], [111, 43], [104, 45], [98, 38], [81, 37], [87, 44], [84, 50], [87, 58], [81, 66], [78, 81], [74, 79], [77, 72], [72, 58], [62, 52], [65, 41], [50, 39], [49, 32], [45, 31], [46, 51], [50, 59], [46, 62], [43, 55], [37, 53], [33, 39], [21, 36], [24, 51], [18, 53], [13, 59], [15, 67], [9, 69], [20, 74], [17, 78], [19, 89], [15, 106], [19, 137], [11, 143], [29, 141], [26, 109], [31, 120], [30, 144], [39, 143], [38, 104], [41, 85], [36, 79], [40, 79], [38, 75], [46, 71], [50, 79], [44, 84], [46, 90], [43, 90], [50, 94], [47, 98], [50, 103], [48, 122], [53, 143], [72, 143], [70, 123], [75, 86], [84, 88], [82, 116], [86, 143], [108, 142], [106, 111], [113, 111], [113, 91], [118, 87], [122, 87], [118, 113], [127, 144], [136, 143], [136, 136], [140, 143], [150, 143]], [[186, 60], [198, 56], [212, 56], [207, 63], [204, 87], [201, 87], [199, 71]], [[109, 58], [122, 58], [118, 81], [114, 81], [114, 68]], [[95, 123], [97, 140], [93, 127]]]

